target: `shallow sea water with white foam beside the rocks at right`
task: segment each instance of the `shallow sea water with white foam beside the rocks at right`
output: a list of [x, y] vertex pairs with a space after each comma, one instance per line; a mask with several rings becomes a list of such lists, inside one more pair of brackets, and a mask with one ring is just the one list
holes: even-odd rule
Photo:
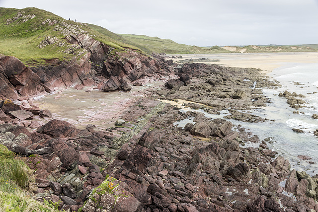
[[[318, 93], [314, 93], [318, 92], [318, 64], [286, 64], [268, 75], [282, 85], [278, 89], [262, 89], [271, 103], [266, 107], [241, 112], [252, 112], [272, 121], [264, 123], [229, 121], [234, 125], [241, 125], [257, 135], [260, 140], [269, 140], [268, 147], [288, 159], [292, 169], [304, 170], [310, 175], [318, 174], [318, 137], [314, 136], [314, 131], [318, 129], [318, 119], [312, 118], [313, 114], [318, 114]], [[305, 95], [306, 97], [302, 99], [307, 101], [306, 107], [298, 110], [289, 107], [287, 99], [279, 96], [279, 93], [285, 90]], [[186, 112], [186, 109], [181, 111]], [[221, 111], [220, 115], [208, 114], [203, 110], [196, 111], [204, 113], [211, 119], [224, 118], [229, 114], [228, 110]], [[299, 111], [299, 114], [293, 111]], [[175, 124], [183, 127], [189, 121], [193, 123], [193, 120], [189, 119]], [[293, 128], [301, 129], [305, 133], [296, 133]], [[303, 160], [298, 157], [301, 155], [312, 159]]]

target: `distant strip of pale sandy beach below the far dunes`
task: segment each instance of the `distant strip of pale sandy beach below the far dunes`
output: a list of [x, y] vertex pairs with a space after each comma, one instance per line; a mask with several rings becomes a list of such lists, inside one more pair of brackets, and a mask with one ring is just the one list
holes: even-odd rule
[[[172, 55], [169, 55], [172, 56]], [[179, 55], [174, 55], [179, 56]], [[219, 60], [206, 64], [218, 64], [220, 66], [257, 68], [263, 71], [273, 71], [287, 63], [318, 63], [318, 52], [309, 53], [244, 53], [244, 54], [188, 54], [181, 55], [182, 59], [173, 59], [174, 62], [186, 59], [207, 58]]]

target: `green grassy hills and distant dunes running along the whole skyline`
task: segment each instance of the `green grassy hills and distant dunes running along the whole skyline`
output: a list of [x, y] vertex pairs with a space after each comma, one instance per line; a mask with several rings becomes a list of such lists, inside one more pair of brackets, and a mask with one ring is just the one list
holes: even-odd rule
[[[70, 43], [70, 34], [87, 34], [115, 51], [132, 49], [146, 54], [194, 53], [260, 53], [311, 52], [318, 45], [297, 46], [244, 46], [198, 47], [178, 44], [172, 40], [145, 35], [115, 34], [93, 24], [65, 20], [51, 12], [34, 7], [24, 9], [0, 8], [0, 54], [15, 56], [23, 63], [34, 66], [52, 59], [71, 60], [83, 52]], [[71, 54], [70, 54], [71, 53]]]

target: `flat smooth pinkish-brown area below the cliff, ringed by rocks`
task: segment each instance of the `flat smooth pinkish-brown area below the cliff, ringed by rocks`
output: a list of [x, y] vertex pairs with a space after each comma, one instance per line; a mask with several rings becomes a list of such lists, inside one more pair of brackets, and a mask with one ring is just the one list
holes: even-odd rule
[[76, 90], [70, 88], [61, 94], [49, 94], [39, 100], [41, 109], [51, 111], [53, 118], [65, 120], [82, 129], [87, 124], [94, 124], [103, 130], [114, 127], [122, 111], [141, 93], [136, 92], [103, 92]]

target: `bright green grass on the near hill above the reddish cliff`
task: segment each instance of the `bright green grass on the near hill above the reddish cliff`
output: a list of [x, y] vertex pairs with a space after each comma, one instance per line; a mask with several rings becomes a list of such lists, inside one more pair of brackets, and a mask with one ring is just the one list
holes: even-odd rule
[[[36, 16], [25, 22], [23, 21], [25, 18], [19, 17], [7, 25], [7, 19], [17, 17], [19, 11], [24, 12], [23, 16], [33, 14]], [[48, 23], [42, 24], [47, 19], [56, 20], [58, 23], [51, 26]], [[125, 39], [102, 27], [65, 20], [51, 12], [34, 7], [24, 9], [0, 7], [0, 54], [17, 57], [30, 66], [46, 64], [46, 61], [56, 58], [60, 60], [74, 58], [74, 55], [77, 55], [76, 53], [79, 53], [80, 49], [74, 55], [64, 53], [70, 45], [66, 42], [65, 36], [54, 30], [56, 25], [62, 21], [69, 25], [78, 26], [96, 40], [113, 47], [115, 51], [125, 48], [141, 51], [138, 47], [129, 43], [126, 44]], [[49, 45], [40, 49], [38, 45], [47, 36], [55, 36], [59, 39], [59, 42], [65, 43], [65, 45]]]

